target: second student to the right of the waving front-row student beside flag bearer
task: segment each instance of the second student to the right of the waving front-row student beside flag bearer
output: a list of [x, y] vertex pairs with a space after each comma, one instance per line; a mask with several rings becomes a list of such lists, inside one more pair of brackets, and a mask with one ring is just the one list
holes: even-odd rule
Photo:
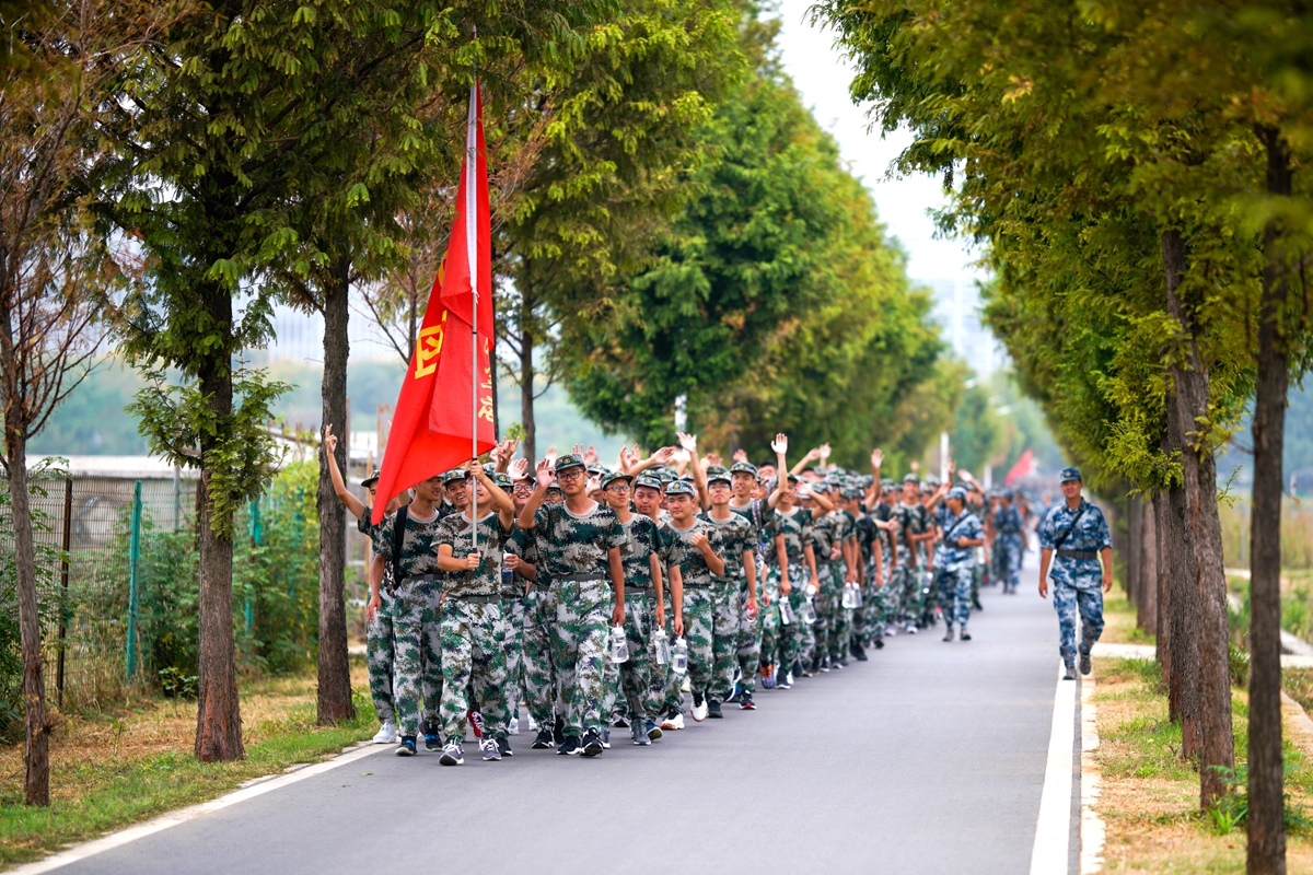
[[[688, 681], [693, 693], [692, 716], [706, 719], [708, 690], [712, 689], [712, 635], [716, 579], [725, 576], [725, 546], [721, 531], [696, 516], [697, 491], [684, 480], [666, 487], [670, 509], [670, 577], [672, 589], [678, 584], [684, 614], [684, 640], [688, 643]], [[683, 711], [681, 678], [674, 672], [666, 687], [667, 714]]]

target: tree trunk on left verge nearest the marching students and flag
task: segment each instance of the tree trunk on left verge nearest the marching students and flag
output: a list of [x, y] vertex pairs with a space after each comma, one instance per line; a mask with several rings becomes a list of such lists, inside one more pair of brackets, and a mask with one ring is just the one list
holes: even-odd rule
[[[324, 374], [320, 387], [323, 424], [340, 436], [337, 467], [347, 471], [347, 337], [351, 261], [339, 258], [323, 287]], [[337, 501], [328, 474], [328, 462], [319, 459], [319, 694], [316, 723], [320, 725], [352, 720], [351, 662], [347, 656], [347, 512]]]

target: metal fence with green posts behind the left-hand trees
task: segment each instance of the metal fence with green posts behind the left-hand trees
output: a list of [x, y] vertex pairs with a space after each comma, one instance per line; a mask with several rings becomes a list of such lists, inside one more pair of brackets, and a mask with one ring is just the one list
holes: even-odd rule
[[[129, 685], [154, 677], [144, 640], [148, 631], [137, 623], [143, 538], [158, 543], [163, 533], [193, 533], [196, 475], [180, 471], [173, 478], [135, 479], [75, 472], [35, 478], [33, 487], [35, 537], [47, 548], [38, 556], [47, 564], [38, 577], [47, 699], [68, 708], [122, 699]], [[0, 491], [7, 489], [8, 481], [0, 479]], [[272, 501], [261, 499], [238, 514], [239, 538], [259, 542], [261, 509], [268, 514]], [[348, 598], [358, 601], [368, 539], [349, 517], [345, 529]], [[312, 540], [303, 550], [316, 558], [318, 535], [310, 533], [305, 540]], [[0, 548], [13, 550], [12, 530], [0, 531]], [[246, 626], [249, 630], [249, 603]]]

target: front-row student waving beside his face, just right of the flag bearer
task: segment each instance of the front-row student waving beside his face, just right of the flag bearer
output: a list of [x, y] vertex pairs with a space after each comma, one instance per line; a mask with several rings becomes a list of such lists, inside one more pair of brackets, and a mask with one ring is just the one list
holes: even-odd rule
[[[558, 479], [566, 500], [544, 504], [548, 488]], [[554, 470], [544, 459], [519, 525], [542, 533], [540, 558], [551, 576], [544, 607], [549, 615], [555, 614], [551, 652], [566, 704], [563, 743], [557, 753], [595, 757], [605, 749], [601, 731], [609, 728], [601, 715], [607, 614], [612, 626], [625, 622], [620, 555], [625, 530], [614, 510], [587, 496], [587, 483], [578, 455], [559, 457]]]

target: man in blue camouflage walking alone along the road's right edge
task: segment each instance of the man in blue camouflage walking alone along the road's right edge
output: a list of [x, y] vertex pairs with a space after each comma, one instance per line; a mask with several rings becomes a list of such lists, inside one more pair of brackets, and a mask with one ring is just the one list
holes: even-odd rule
[[1077, 613], [1082, 674], [1090, 673], [1090, 649], [1103, 634], [1103, 593], [1112, 589], [1112, 535], [1103, 512], [1081, 497], [1081, 468], [1062, 468], [1061, 476], [1066, 501], [1054, 505], [1040, 523], [1040, 598], [1048, 597], [1052, 563], [1058, 652], [1066, 665], [1065, 680], [1074, 681]]

